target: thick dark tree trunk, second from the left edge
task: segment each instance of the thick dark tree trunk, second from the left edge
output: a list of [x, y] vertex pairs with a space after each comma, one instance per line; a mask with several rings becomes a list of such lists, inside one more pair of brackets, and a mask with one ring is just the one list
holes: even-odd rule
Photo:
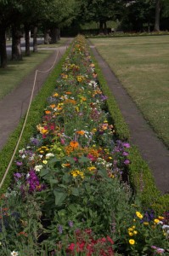
[[22, 37], [22, 33], [20, 29], [16, 26], [12, 27], [12, 60], [13, 61], [21, 61], [22, 60], [22, 52], [20, 47], [20, 38]]

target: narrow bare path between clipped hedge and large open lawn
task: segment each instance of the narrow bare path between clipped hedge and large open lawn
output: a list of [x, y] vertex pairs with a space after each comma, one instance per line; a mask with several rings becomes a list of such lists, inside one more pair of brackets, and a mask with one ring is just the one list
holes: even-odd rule
[[132, 98], [127, 94], [127, 90], [124, 89], [111, 71], [109, 65], [99, 55], [98, 50], [91, 43], [90, 47], [129, 126], [131, 142], [138, 147], [143, 159], [148, 163], [155, 177], [157, 188], [163, 194], [169, 193], [169, 150], [155, 136], [155, 132], [150, 128]]

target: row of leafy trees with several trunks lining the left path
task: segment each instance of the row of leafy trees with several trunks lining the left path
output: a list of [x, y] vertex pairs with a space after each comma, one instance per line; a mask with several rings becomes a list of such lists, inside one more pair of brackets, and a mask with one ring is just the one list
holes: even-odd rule
[[[25, 55], [30, 55], [30, 30], [33, 30], [33, 50], [37, 51], [37, 27], [41, 25], [48, 43], [59, 39], [59, 28], [69, 25], [76, 14], [76, 0], [0, 0], [0, 59], [7, 66], [6, 32], [12, 30], [12, 60], [22, 59], [20, 38], [25, 34]], [[22, 32], [21, 32], [22, 30]]]

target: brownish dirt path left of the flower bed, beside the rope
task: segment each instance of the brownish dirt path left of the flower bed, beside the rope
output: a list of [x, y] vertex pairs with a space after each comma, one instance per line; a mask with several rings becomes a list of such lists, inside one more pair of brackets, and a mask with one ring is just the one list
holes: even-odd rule
[[[0, 101], [0, 150], [7, 142], [9, 134], [14, 131], [16, 126], [19, 124], [20, 118], [25, 114], [26, 109], [29, 106], [36, 70], [48, 70], [48, 68], [53, 65], [55, 59], [57, 64], [61, 55], [65, 53], [65, 50], [71, 41], [72, 38], [69, 38], [63, 46], [55, 48], [56, 50], [59, 49], [57, 59], [54, 48], [48, 48], [48, 50], [53, 50], [51, 55], [49, 55], [45, 61], [38, 65], [27, 77], [25, 77], [18, 87], [12, 90], [11, 93]], [[37, 92], [40, 90], [45, 79], [47, 79], [48, 74], [49, 73], [37, 74], [37, 82], [33, 97], [37, 95]]]

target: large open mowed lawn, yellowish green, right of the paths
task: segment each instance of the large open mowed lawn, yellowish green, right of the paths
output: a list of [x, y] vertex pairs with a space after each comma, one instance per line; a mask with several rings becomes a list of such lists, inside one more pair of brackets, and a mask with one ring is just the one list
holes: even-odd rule
[[169, 36], [91, 41], [169, 148]]

